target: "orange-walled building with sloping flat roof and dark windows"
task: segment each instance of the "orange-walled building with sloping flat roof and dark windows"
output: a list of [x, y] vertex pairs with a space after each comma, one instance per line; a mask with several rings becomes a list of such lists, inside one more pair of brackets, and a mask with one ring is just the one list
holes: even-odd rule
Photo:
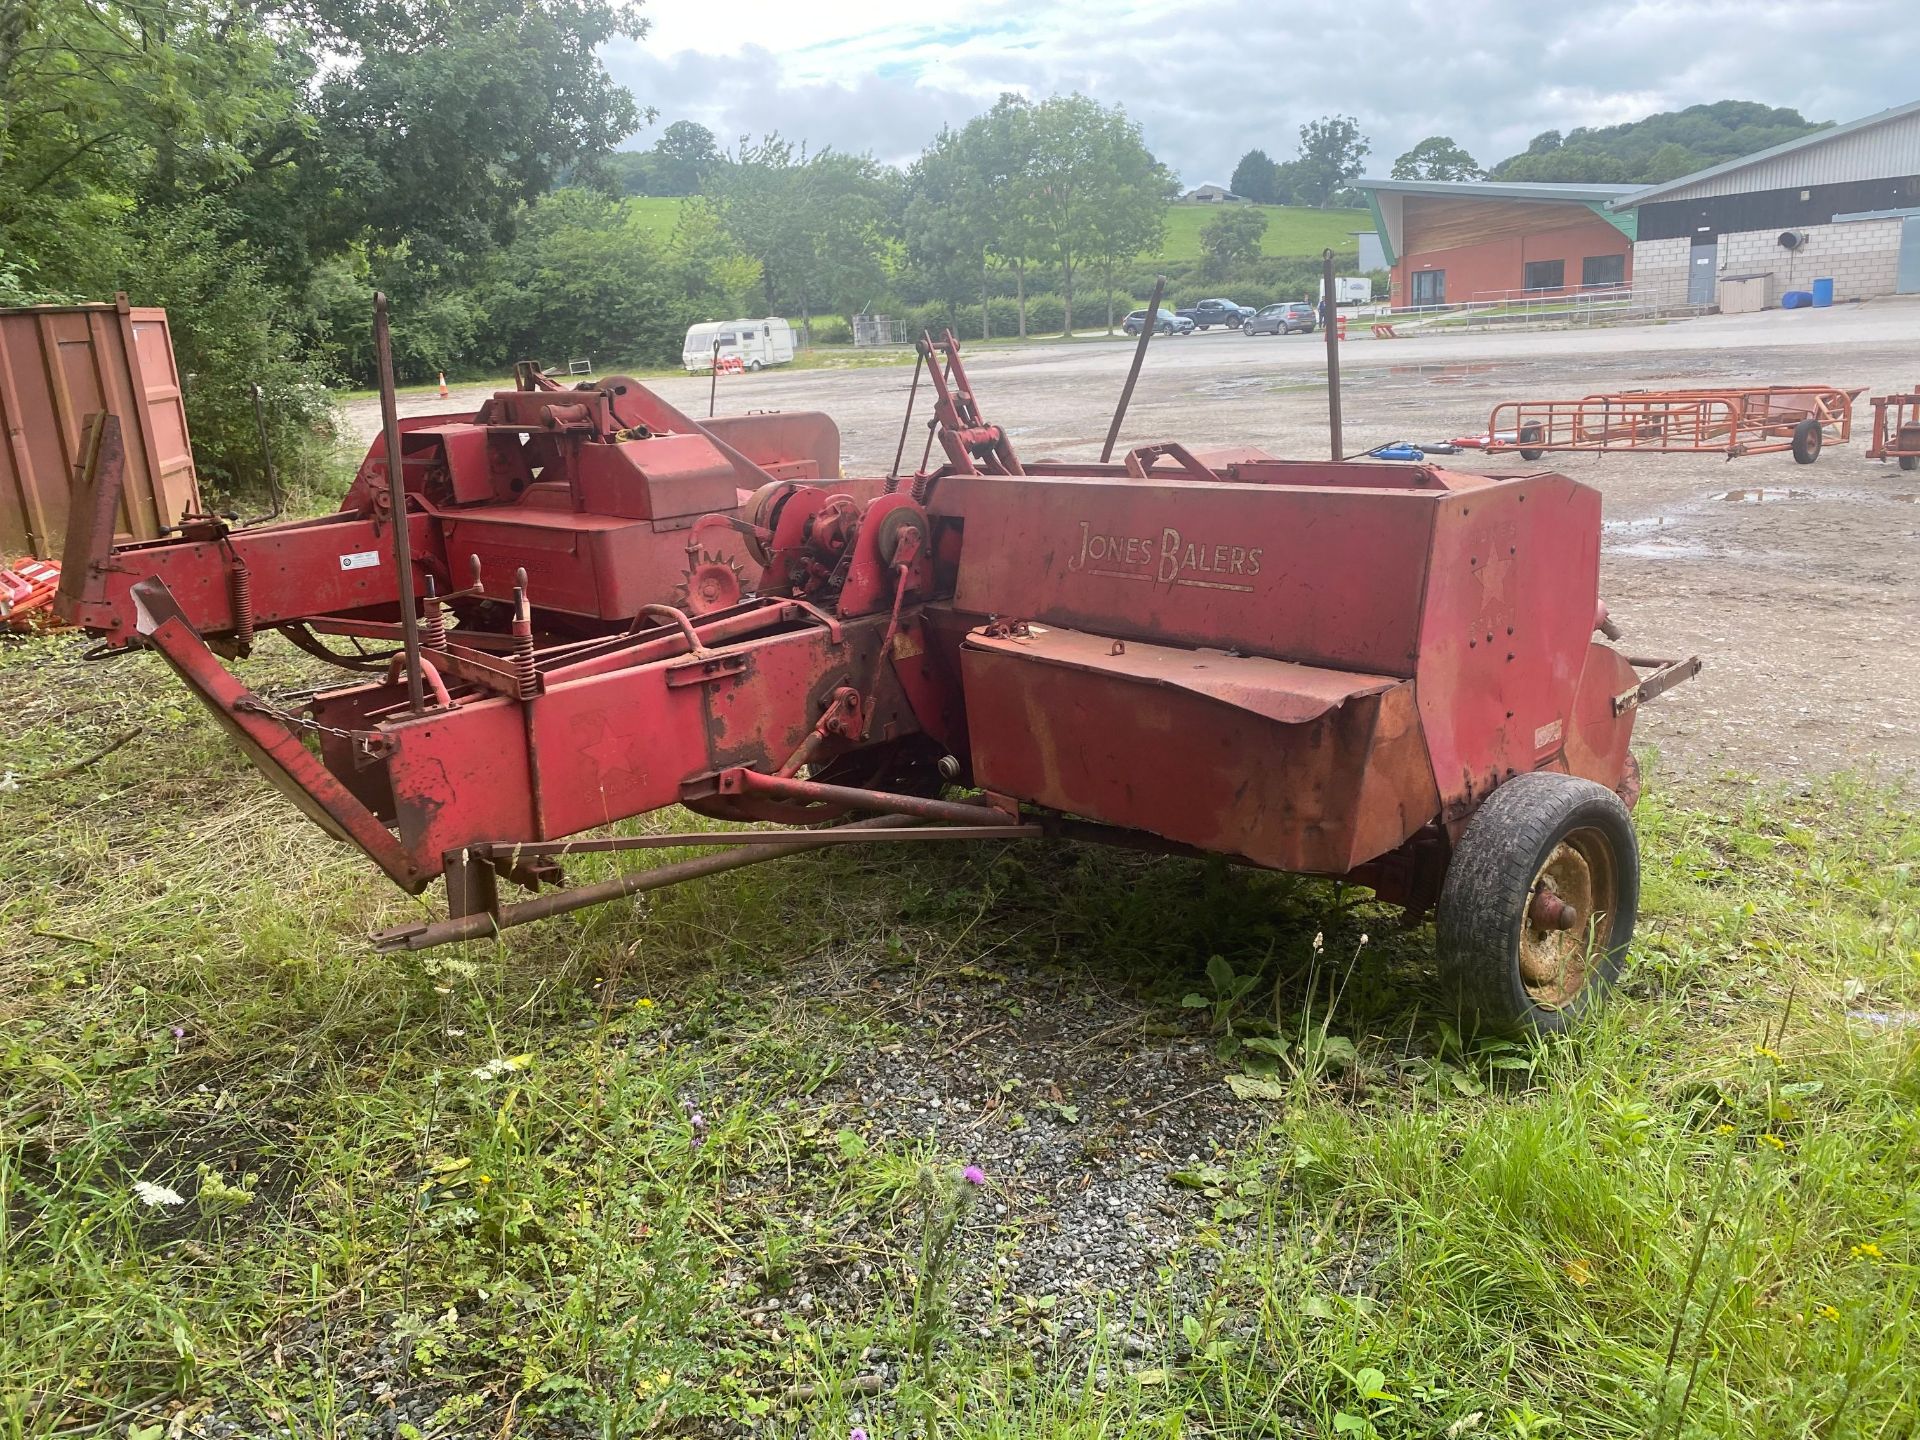
[[1613, 290], [1634, 278], [1630, 184], [1356, 180], [1392, 267], [1392, 303], [1463, 305]]

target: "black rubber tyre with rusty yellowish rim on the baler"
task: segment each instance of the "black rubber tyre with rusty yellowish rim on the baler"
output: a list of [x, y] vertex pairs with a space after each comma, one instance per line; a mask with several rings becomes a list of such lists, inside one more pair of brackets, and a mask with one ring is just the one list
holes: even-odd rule
[[[1571, 914], [1542, 924], [1536, 897]], [[1440, 975], [1463, 1023], [1572, 1029], [1620, 975], [1640, 914], [1640, 843], [1620, 797], [1542, 770], [1500, 785], [1467, 822], [1436, 918]]]

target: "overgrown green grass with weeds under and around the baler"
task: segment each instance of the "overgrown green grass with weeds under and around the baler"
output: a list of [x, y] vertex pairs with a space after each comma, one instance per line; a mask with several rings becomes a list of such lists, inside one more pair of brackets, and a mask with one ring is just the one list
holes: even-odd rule
[[[0, 1436], [1920, 1423], [1899, 789], [1653, 785], [1622, 995], [1519, 1046], [1461, 1043], [1430, 935], [1350, 893], [1104, 851], [839, 852], [376, 956], [415, 902], [156, 662], [8, 645], [0, 712]], [[954, 987], [1064, 1083], [1098, 1060], [1048, 1041], [1052, 973], [1279, 1096], [1187, 1098], [1238, 1121], [1198, 1164], [1137, 1102], [1058, 1131], [1190, 1217], [1087, 1325], [1002, 1279], [1052, 1223], [1020, 1177], [927, 1261], [968, 1154], [845, 1083], [968, 1064], [916, 1020]]]

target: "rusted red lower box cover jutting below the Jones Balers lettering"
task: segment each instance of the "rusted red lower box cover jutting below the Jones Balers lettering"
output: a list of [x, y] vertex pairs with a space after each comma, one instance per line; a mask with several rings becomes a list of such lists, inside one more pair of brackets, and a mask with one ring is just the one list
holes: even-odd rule
[[1434, 818], [1413, 685], [1052, 626], [960, 651], [993, 791], [1281, 870], [1344, 874]]

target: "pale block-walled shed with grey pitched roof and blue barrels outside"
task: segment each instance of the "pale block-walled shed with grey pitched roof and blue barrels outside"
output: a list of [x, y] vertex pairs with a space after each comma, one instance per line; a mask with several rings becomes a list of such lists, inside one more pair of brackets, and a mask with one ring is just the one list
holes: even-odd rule
[[1920, 102], [1642, 188], [1634, 288], [1730, 307], [1728, 282], [1778, 305], [1834, 282], [1836, 300], [1920, 294]]

